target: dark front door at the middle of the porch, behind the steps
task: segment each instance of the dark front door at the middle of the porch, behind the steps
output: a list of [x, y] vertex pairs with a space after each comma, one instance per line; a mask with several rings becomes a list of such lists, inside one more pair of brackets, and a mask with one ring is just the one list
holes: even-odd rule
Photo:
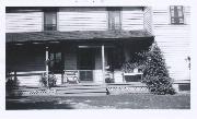
[[79, 48], [78, 69], [80, 70], [79, 80], [93, 81], [93, 70], [95, 66], [95, 50], [93, 48]]

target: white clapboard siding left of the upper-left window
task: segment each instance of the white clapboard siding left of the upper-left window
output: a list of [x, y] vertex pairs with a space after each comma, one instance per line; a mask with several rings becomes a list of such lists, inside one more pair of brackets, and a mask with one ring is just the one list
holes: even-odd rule
[[40, 32], [43, 28], [42, 12], [7, 13], [7, 33]]

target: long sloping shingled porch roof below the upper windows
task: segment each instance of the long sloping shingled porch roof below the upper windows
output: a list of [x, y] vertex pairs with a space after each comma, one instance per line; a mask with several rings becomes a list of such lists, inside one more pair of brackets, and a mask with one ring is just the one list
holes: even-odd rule
[[125, 39], [153, 37], [144, 31], [76, 31], [76, 32], [31, 32], [7, 33], [7, 43], [18, 41], [50, 41], [50, 40], [83, 40], [83, 39]]

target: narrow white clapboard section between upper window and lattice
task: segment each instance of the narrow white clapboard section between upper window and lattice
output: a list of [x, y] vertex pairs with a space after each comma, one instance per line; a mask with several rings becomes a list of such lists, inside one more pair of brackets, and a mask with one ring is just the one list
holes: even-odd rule
[[123, 8], [121, 28], [125, 31], [143, 29], [142, 8]]

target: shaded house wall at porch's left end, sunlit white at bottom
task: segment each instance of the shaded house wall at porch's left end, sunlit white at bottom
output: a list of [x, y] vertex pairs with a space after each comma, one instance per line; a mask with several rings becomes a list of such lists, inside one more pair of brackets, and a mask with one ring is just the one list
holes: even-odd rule
[[20, 85], [39, 86], [42, 72], [45, 71], [45, 50], [38, 46], [19, 46], [7, 49], [7, 70], [16, 71]]

